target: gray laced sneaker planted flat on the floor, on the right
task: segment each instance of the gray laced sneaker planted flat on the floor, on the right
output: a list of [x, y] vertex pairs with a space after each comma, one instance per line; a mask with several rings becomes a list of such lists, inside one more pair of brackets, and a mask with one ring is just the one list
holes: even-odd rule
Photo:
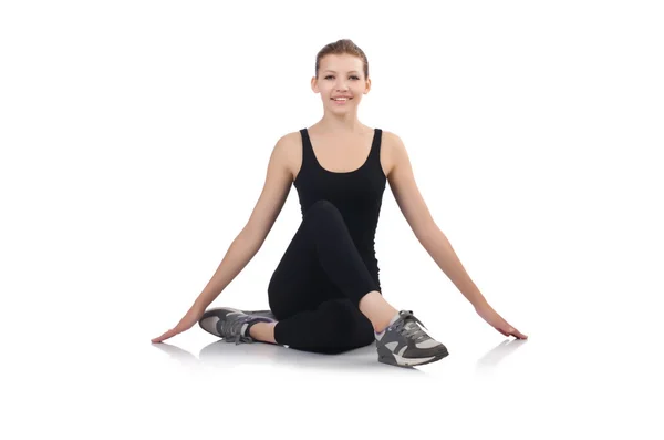
[[378, 361], [397, 367], [412, 367], [440, 360], [447, 348], [428, 336], [424, 324], [413, 310], [401, 310], [398, 318], [382, 332], [375, 334]]

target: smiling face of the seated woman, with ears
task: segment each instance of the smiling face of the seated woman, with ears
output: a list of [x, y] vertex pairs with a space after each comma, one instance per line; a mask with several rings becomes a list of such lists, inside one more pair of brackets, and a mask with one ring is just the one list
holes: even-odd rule
[[[356, 111], [362, 95], [371, 88], [364, 78], [362, 60], [349, 54], [329, 54], [321, 59], [319, 76], [311, 80], [315, 93], [321, 94], [323, 106], [334, 113]], [[346, 96], [336, 101], [338, 96]]]

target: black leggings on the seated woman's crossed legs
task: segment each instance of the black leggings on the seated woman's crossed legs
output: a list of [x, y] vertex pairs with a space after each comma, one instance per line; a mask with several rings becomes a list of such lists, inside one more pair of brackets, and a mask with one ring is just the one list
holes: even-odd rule
[[372, 278], [339, 209], [318, 201], [304, 213], [268, 287], [270, 309], [279, 323], [277, 344], [338, 354], [372, 344], [371, 321], [360, 299], [381, 291]]

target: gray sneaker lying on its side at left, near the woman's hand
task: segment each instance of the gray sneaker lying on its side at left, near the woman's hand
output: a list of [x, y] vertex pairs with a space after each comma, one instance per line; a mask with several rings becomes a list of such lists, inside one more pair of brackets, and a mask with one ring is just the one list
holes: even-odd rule
[[198, 320], [198, 325], [205, 331], [212, 334], [227, 342], [255, 342], [249, 336], [249, 325], [253, 323], [276, 323], [277, 319], [269, 316], [246, 314], [230, 307], [216, 307], [206, 310]]

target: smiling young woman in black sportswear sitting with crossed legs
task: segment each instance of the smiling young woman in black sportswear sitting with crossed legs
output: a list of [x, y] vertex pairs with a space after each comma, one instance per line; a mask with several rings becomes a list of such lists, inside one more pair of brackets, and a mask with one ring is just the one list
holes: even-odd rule
[[[362, 95], [371, 89], [364, 52], [351, 40], [325, 45], [317, 55], [311, 88], [321, 94], [323, 117], [277, 142], [247, 225], [185, 317], [152, 341], [199, 323], [226, 341], [259, 340], [315, 352], [338, 354], [375, 340], [378, 361], [402, 367], [447, 356], [412, 310], [397, 310], [382, 296], [374, 236], [387, 181], [417, 239], [479, 316], [505, 336], [527, 338], [489, 306], [438, 229], [401, 139], [357, 120]], [[260, 249], [291, 184], [302, 223], [270, 279], [271, 310], [206, 311]]]

